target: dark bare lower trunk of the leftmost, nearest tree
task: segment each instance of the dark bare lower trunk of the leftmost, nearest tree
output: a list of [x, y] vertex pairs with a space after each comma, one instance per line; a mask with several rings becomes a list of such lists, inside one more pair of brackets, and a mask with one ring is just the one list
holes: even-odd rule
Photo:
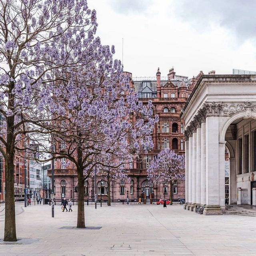
[[14, 116], [6, 118], [7, 146], [5, 158], [5, 220], [4, 241], [16, 242], [15, 202], [14, 202]]

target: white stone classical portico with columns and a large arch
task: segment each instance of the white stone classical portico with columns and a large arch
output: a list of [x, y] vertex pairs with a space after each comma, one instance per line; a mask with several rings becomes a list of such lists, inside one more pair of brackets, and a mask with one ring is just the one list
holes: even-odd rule
[[186, 137], [185, 209], [206, 204], [206, 215], [225, 211], [225, 148], [230, 156], [226, 203], [256, 205], [255, 88], [256, 75], [199, 78], [181, 114]]

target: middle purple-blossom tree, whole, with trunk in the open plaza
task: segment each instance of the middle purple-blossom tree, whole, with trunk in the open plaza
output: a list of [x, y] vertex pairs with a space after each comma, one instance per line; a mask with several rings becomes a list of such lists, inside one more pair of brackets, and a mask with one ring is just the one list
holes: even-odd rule
[[[93, 173], [111, 170], [123, 174], [122, 165], [142, 151], [141, 141], [152, 147], [150, 132], [158, 116], [150, 117], [152, 102], [143, 105], [121, 62], [112, 60], [114, 48], [99, 45], [94, 66], [84, 66], [60, 84], [58, 97], [64, 119], [51, 122], [55, 158], [65, 157], [78, 173], [77, 228], [85, 227], [84, 180]], [[58, 114], [58, 113], [56, 113]], [[145, 120], [147, 120], [145, 122]]]

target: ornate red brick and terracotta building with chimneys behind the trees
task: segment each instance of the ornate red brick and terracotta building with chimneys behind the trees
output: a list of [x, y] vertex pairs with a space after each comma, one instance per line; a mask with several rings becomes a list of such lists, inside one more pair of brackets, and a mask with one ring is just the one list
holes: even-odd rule
[[[192, 93], [195, 78], [188, 79], [186, 76], [178, 76], [174, 68], [169, 70], [167, 77], [161, 77], [158, 71], [156, 77], [150, 78], [132, 78], [132, 74], [126, 72], [131, 78], [131, 86], [138, 92], [138, 96], [145, 104], [152, 99], [152, 114], [159, 115], [159, 122], [152, 131], [154, 149], [148, 150], [148, 154], [141, 155], [134, 160], [128, 169], [130, 180], [121, 182], [111, 182], [110, 195], [112, 200], [125, 200], [127, 196], [131, 199], [137, 199], [140, 196], [144, 202], [150, 202], [150, 199], [156, 200], [160, 197], [170, 197], [170, 184], [154, 184], [147, 180], [147, 168], [151, 160], [160, 150], [170, 148], [178, 154], [184, 154], [185, 140], [183, 136], [184, 122], [180, 118], [180, 113], [190, 94]], [[133, 79], [133, 80], [132, 80]], [[64, 161], [64, 159], [62, 160]], [[61, 196], [66, 198], [76, 198], [77, 177], [75, 166], [71, 163], [68, 168], [62, 168], [61, 161], [55, 161], [54, 180], [56, 199]], [[51, 171], [48, 170], [48, 176]], [[100, 182], [102, 181], [102, 183]], [[107, 184], [101, 177], [97, 177], [97, 194], [102, 194], [102, 198], [107, 198]], [[174, 182], [173, 198], [185, 198], [185, 182]], [[94, 179], [84, 182], [85, 198], [94, 198], [95, 184]]]

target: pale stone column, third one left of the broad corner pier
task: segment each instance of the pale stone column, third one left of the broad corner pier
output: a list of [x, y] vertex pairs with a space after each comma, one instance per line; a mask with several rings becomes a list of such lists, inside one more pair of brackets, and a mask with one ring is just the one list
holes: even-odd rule
[[196, 206], [196, 127], [193, 130], [192, 141], [192, 204], [190, 210], [194, 211]]

